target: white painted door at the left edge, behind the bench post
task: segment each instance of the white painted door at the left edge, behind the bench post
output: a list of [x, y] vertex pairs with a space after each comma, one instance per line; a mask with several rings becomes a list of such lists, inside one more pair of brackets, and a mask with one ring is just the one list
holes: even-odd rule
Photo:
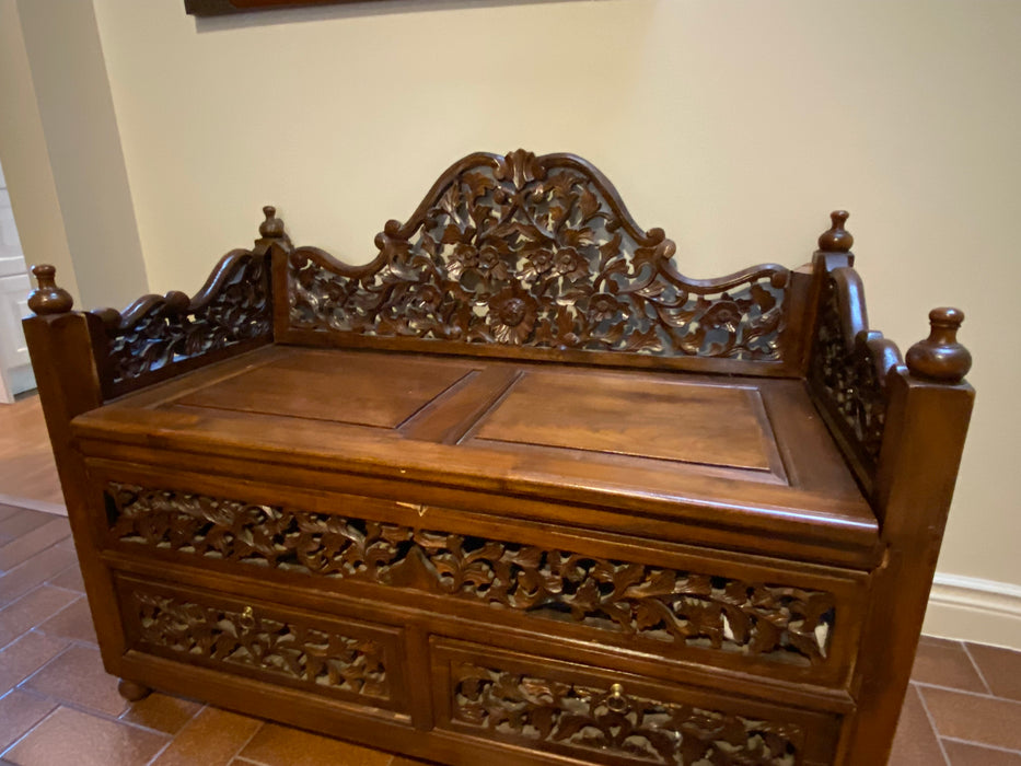
[[28, 314], [28, 269], [0, 169], [0, 403], [35, 387], [21, 318]]

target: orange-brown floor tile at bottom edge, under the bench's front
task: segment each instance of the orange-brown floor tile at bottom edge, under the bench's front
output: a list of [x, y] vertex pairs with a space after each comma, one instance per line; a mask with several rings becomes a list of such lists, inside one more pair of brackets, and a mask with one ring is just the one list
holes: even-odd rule
[[388, 766], [393, 757], [390, 753], [276, 723], [263, 727], [240, 755], [266, 766]]

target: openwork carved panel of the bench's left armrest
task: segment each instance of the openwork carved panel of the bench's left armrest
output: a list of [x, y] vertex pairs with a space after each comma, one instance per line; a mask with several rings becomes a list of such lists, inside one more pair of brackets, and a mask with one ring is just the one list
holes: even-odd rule
[[189, 299], [183, 292], [147, 295], [124, 313], [96, 312], [107, 337], [104, 373], [113, 394], [169, 365], [245, 341], [269, 339], [272, 306], [265, 256], [229, 253], [206, 286]]

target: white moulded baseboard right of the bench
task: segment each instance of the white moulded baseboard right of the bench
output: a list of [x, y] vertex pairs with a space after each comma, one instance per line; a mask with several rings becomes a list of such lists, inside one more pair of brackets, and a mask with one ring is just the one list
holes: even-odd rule
[[921, 631], [1021, 650], [1021, 585], [937, 572]]

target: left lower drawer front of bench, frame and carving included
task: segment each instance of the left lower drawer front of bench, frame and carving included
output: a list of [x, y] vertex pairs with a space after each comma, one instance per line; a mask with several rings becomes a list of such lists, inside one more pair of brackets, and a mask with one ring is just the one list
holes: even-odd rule
[[118, 574], [127, 646], [361, 706], [404, 711], [398, 628]]

